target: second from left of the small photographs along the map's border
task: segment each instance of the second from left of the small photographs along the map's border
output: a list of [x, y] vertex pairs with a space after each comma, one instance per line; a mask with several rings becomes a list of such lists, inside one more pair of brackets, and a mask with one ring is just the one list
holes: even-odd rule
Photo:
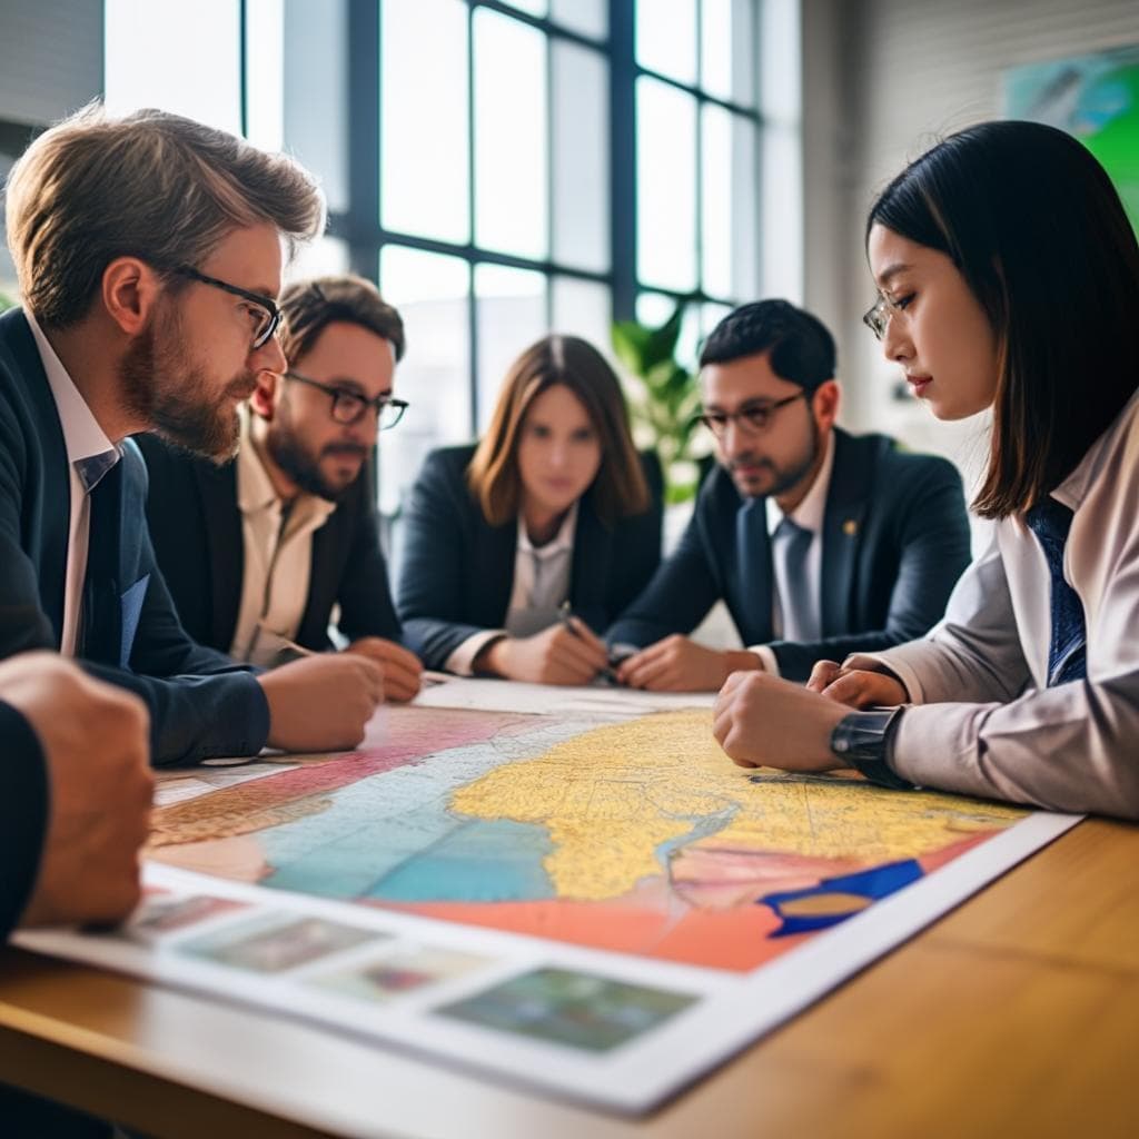
[[385, 936], [323, 918], [272, 913], [183, 942], [178, 951], [251, 973], [282, 973]]

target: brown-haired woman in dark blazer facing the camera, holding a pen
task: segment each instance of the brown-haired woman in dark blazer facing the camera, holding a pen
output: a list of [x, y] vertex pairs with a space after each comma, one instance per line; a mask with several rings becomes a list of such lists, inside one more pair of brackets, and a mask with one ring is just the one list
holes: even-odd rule
[[580, 685], [595, 630], [661, 558], [661, 467], [638, 457], [600, 353], [547, 336], [511, 366], [477, 445], [434, 451], [412, 487], [398, 608], [429, 669]]

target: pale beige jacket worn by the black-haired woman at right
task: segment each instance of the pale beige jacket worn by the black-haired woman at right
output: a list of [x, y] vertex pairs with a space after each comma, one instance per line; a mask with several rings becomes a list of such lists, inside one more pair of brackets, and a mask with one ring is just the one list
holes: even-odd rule
[[1048, 566], [1019, 517], [965, 572], [924, 640], [875, 654], [906, 685], [892, 763], [913, 782], [1139, 818], [1139, 394], [1054, 492], [1074, 511], [1064, 576], [1088, 679], [1046, 687]]

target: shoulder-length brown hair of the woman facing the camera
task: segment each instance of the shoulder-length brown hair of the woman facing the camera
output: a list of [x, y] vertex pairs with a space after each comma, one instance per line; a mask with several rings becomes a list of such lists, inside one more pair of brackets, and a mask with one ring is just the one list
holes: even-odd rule
[[649, 492], [629, 431], [621, 382], [605, 358], [576, 336], [544, 336], [510, 366], [491, 425], [467, 468], [467, 484], [492, 526], [522, 506], [518, 443], [534, 400], [556, 384], [581, 400], [601, 444], [601, 466], [587, 493], [607, 525], [648, 509]]

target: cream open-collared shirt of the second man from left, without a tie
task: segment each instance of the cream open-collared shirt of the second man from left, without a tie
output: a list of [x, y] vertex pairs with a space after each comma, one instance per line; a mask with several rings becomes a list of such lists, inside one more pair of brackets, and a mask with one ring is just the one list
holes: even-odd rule
[[292, 508], [277, 493], [241, 413], [237, 452], [237, 505], [241, 511], [245, 573], [230, 656], [270, 666], [296, 638], [309, 600], [312, 535], [336, 509], [316, 494], [298, 494]]

